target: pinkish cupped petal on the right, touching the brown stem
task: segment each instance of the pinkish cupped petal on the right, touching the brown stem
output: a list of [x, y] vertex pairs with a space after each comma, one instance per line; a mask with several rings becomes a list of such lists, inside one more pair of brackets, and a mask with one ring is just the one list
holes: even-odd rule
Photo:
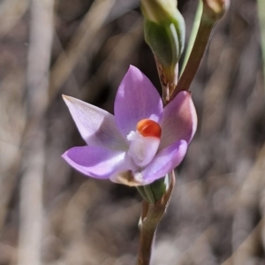
[[197, 114], [189, 92], [180, 92], [165, 106], [161, 127], [160, 149], [170, 146], [177, 140], [186, 140], [190, 143], [197, 128]]

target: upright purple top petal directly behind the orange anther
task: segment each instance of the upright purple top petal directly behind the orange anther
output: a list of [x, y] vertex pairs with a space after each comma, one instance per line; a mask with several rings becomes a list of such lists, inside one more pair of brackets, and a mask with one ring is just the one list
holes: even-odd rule
[[125, 138], [136, 130], [137, 123], [143, 118], [161, 121], [163, 103], [160, 95], [151, 81], [132, 65], [118, 87], [114, 112], [117, 127]]

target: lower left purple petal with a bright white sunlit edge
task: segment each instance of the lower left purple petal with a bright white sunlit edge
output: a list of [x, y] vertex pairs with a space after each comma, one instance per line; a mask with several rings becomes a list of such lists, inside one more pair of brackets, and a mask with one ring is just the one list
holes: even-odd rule
[[74, 169], [93, 178], [110, 178], [125, 160], [125, 152], [87, 146], [71, 148], [62, 156]]

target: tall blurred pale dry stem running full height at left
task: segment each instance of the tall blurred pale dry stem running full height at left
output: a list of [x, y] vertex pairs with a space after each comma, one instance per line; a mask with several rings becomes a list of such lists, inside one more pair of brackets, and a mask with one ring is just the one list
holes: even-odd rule
[[22, 146], [23, 178], [20, 187], [19, 265], [41, 264], [42, 180], [48, 102], [48, 72], [53, 35], [53, 0], [32, 1], [27, 65], [27, 127]]

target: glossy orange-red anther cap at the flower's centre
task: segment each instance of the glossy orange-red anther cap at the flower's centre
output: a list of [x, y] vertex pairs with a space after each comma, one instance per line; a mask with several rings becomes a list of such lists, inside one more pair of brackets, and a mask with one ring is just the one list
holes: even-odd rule
[[145, 118], [137, 124], [137, 131], [144, 137], [161, 137], [161, 127], [154, 120]]

